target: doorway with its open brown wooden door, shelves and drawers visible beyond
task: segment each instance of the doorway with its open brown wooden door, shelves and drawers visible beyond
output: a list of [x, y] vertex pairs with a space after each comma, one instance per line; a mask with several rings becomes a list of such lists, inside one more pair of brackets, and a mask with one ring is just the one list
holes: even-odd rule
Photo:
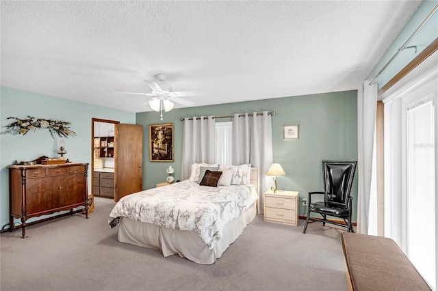
[[92, 197], [118, 202], [142, 191], [143, 127], [99, 118], [91, 124]]

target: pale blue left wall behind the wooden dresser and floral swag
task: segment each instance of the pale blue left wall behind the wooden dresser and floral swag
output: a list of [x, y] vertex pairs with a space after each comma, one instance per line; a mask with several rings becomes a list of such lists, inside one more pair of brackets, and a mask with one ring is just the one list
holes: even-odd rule
[[[125, 124], [135, 124], [136, 114], [109, 109], [86, 103], [55, 98], [42, 94], [25, 92], [9, 87], [0, 87], [0, 120], [3, 126], [10, 124], [7, 117], [57, 119], [71, 122], [71, 130], [77, 136], [64, 139], [66, 158], [72, 162], [91, 164], [91, 119], [118, 120]], [[53, 139], [48, 130], [40, 129], [27, 135], [0, 135], [0, 225], [9, 223], [8, 165], [14, 160], [32, 161], [39, 156], [57, 156], [60, 137]], [[90, 168], [91, 169], [91, 166]], [[91, 189], [88, 175], [88, 189]], [[29, 220], [30, 221], [30, 220]]]

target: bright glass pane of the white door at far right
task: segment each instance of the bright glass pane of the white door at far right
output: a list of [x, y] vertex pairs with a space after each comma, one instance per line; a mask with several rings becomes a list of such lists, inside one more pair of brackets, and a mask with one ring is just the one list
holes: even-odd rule
[[407, 109], [407, 255], [436, 286], [435, 108], [433, 98]]

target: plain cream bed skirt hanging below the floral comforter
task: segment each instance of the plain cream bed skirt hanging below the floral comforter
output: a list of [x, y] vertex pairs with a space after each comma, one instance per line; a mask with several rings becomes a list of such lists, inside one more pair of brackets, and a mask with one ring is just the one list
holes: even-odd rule
[[256, 214], [257, 204], [254, 203], [240, 217], [229, 221], [214, 249], [209, 249], [196, 232], [174, 230], [127, 218], [120, 219], [118, 241], [149, 249], [160, 249], [165, 257], [178, 254], [198, 264], [213, 264], [242, 234]]

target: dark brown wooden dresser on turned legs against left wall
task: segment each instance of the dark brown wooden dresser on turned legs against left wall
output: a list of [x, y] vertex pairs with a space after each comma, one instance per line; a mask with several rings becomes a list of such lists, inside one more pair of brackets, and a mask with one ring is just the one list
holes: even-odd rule
[[14, 218], [21, 219], [24, 238], [27, 219], [62, 210], [73, 214], [78, 206], [85, 207], [88, 218], [88, 163], [10, 165], [8, 169], [11, 232]]

